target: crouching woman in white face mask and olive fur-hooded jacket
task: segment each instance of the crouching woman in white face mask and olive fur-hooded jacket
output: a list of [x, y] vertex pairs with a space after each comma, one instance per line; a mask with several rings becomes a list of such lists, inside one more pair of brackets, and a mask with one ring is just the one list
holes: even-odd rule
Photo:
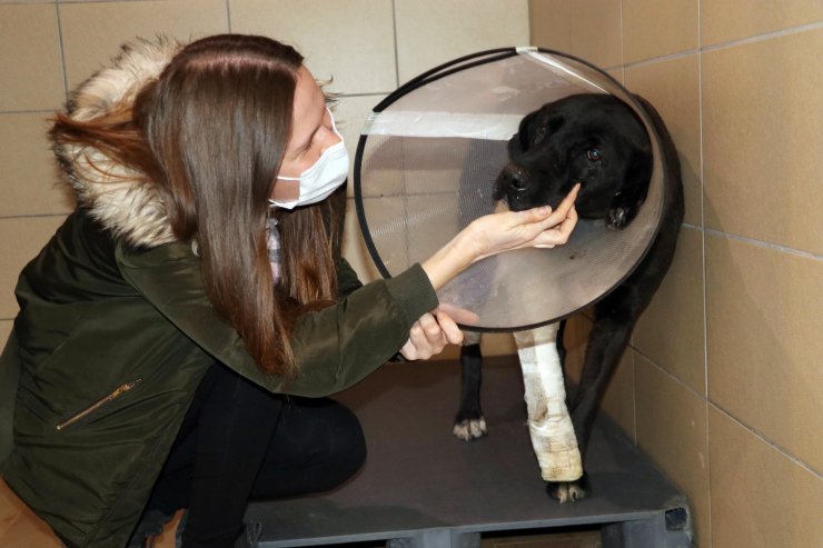
[[182, 546], [252, 545], [249, 498], [329, 489], [365, 458], [325, 396], [459, 342], [435, 291], [576, 222], [574, 192], [484, 217], [361, 286], [339, 255], [341, 138], [301, 57], [261, 37], [125, 47], [50, 134], [78, 208], [17, 287], [2, 475], [69, 546], [141, 546], [181, 507]]

